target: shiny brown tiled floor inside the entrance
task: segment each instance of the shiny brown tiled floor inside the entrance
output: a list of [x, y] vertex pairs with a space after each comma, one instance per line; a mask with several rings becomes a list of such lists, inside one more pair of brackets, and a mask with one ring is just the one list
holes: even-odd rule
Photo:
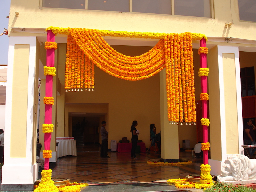
[[188, 157], [193, 163], [187, 165], [150, 165], [150, 158], [160, 158], [160, 154], [140, 153], [139, 160], [133, 160], [130, 153], [108, 152], [110, 158], [100, 158], [97, 146], [78, 146], [77, 156], [58, 158], [52, 168], [52, 177], [69, 178], [70, 182], [91, 184], [121, 184], [163, 181], [183, 178], [189, 174], [200, 174], [202, 159], [193, 158], [191, 151], [180, 152], [180, 158]]

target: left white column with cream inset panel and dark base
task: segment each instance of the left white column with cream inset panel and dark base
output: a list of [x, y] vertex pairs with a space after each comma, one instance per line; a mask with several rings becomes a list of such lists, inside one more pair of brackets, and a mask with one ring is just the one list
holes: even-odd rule
[[[13, 98], [20, 97], [18, 91], [15, 90], [13, 79], [17, 78], [14, 76], [14, 68], [17, 63], [17, 55], [15, 53], [19, 50], [19, 46], [15, 47], [15, 45], [27, 45], [29, 46], [29, 51], [27, 61], [22, 61], [21, 63], [26, 63], [25, 66], [28, 68], [28, 73], [26, 76], [20, 72], [20, 79], [27, 78], [28, 84], [20, 84], [20, 88], [27, 91], [27, 108], [19, 108], [20, 106], [12, 106]], [[28, 49], [26, 49], [28, 50]], [[19, 58], [18, 58], [19, 59]], [[16, 62], [15, 62], [16, 61]], [[15, 65], [15, 66], [14, 66]], [[33, 148], [33, 144], [35, 145], [36, 138], [33, 137], [33, 119], [34, 117], [34, 82], [35, 82], [35, 68], [36, 68], [36, 37], [10, 37], [9, 40], [9, 55], [8, 55], [8, 76], [7, 76], [7, 89], [6, 89], [6, 113], [5, 113], [5, 131], [4, 131], [4, 166], [2, 167], [2, 191], [32, 191], [33, 184], [37, 179], [38, 167], [37, 163], [35, 163], [35, 152]], [[17, 82], [16, 82], [17, 83]], [[18, 93], [18, 94], [17, 94]], [[22, 92], [23, 93], [23, 92]], [[23, 102], [24, 100], [20, 100]], [[21, 105], [22, 106], [22, 105]], [[26, 141], [23, 146], [19, 145], [19, 140], [13, 140], [12, 134], [13, 132], [13, 124], [14, 122], [13, 114], [16, 112], [15, 110], [27, 111], [26, 125], [21, 127], [22, 130], [26, 131], [25, 137]], [[17, 114], [17, 113], [16, 113]], [[24, 115], [24, 114], [23, 114]], [[19, 121], [19, 117], [17, 117], [16, 121]], [[22, 126], [22, 125], [21, 125]], [[35, 128], [36, 129], [36, 128]], [[35, 130], [34, 130], [35, 132]], [[24, 133], [24, 131], [22, 131]], [[24, 139], [24, 138], [21, 138]], [[24, 141], [24, 140], [23, 140]], [[15, 151], [17, 147], [26, 148], [24, 150], [24, 155], [12, 154], [12, 151]], [[14, 150], [12, 150], [14, 149]]]

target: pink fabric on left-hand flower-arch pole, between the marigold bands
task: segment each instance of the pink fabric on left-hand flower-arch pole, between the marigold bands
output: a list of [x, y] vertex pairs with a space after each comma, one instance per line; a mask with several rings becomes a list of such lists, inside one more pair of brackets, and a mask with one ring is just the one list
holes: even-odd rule
[[[55, 42], [55, 34], [52, 31], [47, 31], [47, 41]], [[46, 49], [46, 66], [54, 67], [54, 49]], [[52, 82], [53, 76], [46, 75], [46, 83], [45, 83], [45, 96], [52, 97]], [[52, 105], [45, 105], [45, 124], [52, 124]], [[44, 134], [44, 150], [50, 150], [52, 133]], [[44, 169], [49, 169], [50, 159], [44, 159]]]

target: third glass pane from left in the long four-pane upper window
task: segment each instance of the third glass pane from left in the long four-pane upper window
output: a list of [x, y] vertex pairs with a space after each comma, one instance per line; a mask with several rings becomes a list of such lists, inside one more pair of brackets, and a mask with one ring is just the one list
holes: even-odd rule
[[172, 14], [171, 0], [132, 0], [132, 12]]

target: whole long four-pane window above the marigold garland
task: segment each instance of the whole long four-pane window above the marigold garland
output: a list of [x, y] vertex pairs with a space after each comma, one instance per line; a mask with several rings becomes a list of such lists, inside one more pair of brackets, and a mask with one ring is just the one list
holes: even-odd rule
[[213, 0], [41, 0], [42, 7], [211, 17]]

